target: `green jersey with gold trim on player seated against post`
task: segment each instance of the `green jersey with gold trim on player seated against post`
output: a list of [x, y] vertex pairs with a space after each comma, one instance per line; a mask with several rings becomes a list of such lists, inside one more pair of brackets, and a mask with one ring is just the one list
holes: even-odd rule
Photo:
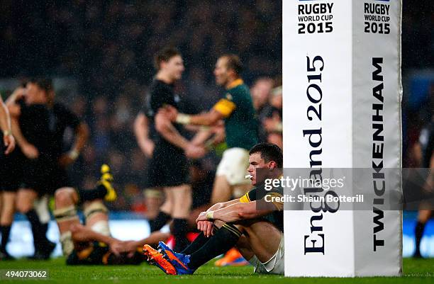
[[[265, 198], [266, 195], [269, 195], [269, 198]], [[262, 205], [264, 205], [265, 202], [271, 202], [273, 203], [273, 205], [276, 207], [276, 210], [269, 213], [268, 215], [265, 215], [264, 217], [262, 217], [263, 219], [267, 220], [268, 222], [272, 223], [274, 226], [277, 227], [277, 229], [279, 229], [281, 232], [283, 232], [284, 230], [284, 222], [283, 222], [283, 202], [281, 202], [279, 200], [279, 202], [276, 202], [274, 200], [272, 200], [272, 197], [278, 197], [278, 198], [282, 198], [283, 196], [283, 188], [279, 187], [279, 188], [272, 188], [271, 191], [266, 191], [265, 190], [265, 185], [262, 184], [260, 186], [255, 186], [254, 188], [252, 188], [251, 191], [249, 191], [248, 193], [245, 193], [245, 195], [243, 195], [240, 198], [240, 202], [241, 203], [248, 203], [251, 201], [255, 201], [257, 200], [257, 208], [260, 209], [260, 207]], [[267, 201], [267, 200], [271, 200], [271, 201]], [[262, 203], [262, 204], [261, 204]]]

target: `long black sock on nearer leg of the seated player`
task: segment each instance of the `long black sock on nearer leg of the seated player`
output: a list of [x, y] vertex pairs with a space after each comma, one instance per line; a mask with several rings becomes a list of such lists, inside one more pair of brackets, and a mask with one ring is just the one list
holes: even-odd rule
[[190, 255], [190, 262], [187, 265], [191, 269], [197, 269], [216, 256], [226, 253], [235, 246], [241, 234], [234, 225], [223, 224], [201, 249]]

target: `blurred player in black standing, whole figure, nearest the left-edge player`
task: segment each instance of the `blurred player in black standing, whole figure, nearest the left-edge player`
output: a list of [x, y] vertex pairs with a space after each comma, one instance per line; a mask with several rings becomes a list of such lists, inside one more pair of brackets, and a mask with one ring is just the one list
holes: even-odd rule
[[11, 113], [13, 136], [19, 147], [11, 154], [13, 169], [11, 191], [17, 191], [16, 208], [28, 217], [33, 232], [36, 251], [44, 248], [46, 253], [55, 248], [55, 244], [45, 236], [46, 225], [33, 208], [33, 201], [38, 192], [45, 190], [45, 181], [49, 179], [50, 162], [50, 115], [45, 106], [47, 84], [43, 81], [28, 83], [26, 89], [14, 92], [6, 101]]

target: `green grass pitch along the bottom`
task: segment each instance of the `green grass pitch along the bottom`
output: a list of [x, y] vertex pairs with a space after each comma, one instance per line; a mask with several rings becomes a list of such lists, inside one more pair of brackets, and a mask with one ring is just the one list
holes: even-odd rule
[[[47, 270], [48, 279], [6, 280], [7, 270]], [[210, 262], [193, 276], [166, 276], [160, 269], [143, 263], [140, 266], [66, 266], [65, 259], [50, 261], [0, 261], [0, 283], [434, 283], [434, 259], [404, 259], [401, 278], [284, 278], [252, 273], [251, 266], [216, 268]]]

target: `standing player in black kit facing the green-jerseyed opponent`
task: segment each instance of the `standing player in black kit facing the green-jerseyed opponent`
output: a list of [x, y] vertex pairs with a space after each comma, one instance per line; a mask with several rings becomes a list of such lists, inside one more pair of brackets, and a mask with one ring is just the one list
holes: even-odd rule
[[184, 62], [174, 48], [166, 48], [155, 56], [157, 74], [150, 87], [150, 117], [157, 130], [157, 140], [148, 165], [148, 188], [164, 188], [166, 199], [160, 213], [150, 222], [154, 232], [173, 220], [172, 233], [177, 249], [188, 244], [187, 217], [191, 206], [189, 166], [187, 156], [201, 157], [205, 149], [194, 146], [179, 132], [182, 125], [174, 124], [165, 115], [158, 114], [165, 106], [178, 107], [179, 96], [174, 93], [174, 83], [181, 79]]

